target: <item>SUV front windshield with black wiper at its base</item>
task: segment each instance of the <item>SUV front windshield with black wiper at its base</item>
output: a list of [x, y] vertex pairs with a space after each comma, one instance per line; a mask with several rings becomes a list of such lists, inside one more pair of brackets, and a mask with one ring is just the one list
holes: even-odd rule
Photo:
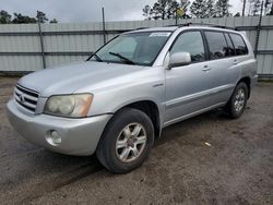
[[169, 32], [122, 34], [100, 48], [91, 60], [152, 65], [169, 36]]

